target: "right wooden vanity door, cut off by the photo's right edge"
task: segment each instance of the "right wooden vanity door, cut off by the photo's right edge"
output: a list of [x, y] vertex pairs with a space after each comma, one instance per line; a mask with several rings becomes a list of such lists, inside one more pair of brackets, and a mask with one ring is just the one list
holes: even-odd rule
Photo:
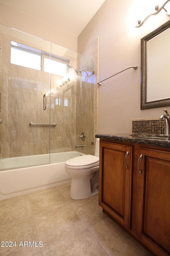
[[139, 148], [140, 156], [137, 235], [156, 255], [170, 255], [170, 154]]

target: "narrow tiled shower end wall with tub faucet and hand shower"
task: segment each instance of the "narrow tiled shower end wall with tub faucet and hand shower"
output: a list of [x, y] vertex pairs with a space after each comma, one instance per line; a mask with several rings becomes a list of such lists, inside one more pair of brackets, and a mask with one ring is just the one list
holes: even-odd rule
[[[97, 133], [97, 108], [98, 108], [98, 86], [97, 86], [97, 68], [98, 68], [98, 38], [89, 45], [89, 47], [83, 52], [84, 55], [89, 56], [87, 62], [84, 61], [83, 55], [80, 55], [78, 59], [78, 66], [81, 69], [86, 69], [88, 71], [95, 71], [95, 75], [86, 79], [86, 82], [82, 82], [82, 96], [84, 105], [84, 116], [76, 118], [76, 130], [80, 135], [82, 132], [86, 134], [85, 141], [76, 140], [77, 144], [84, 144], [84, 148], [80, 148], [80, 152], [84, 154], [95, 154], [95, 134]], [[94, 65], [92, 65], [94, 61]], [[85, 66], [84, 66], [85, 64]], [[91, 70], [91, 67], [94, 69]], [[80, 91], [80, 85], [77, 79], [77, 93]], [[77, 94], [77, 108], [79, 102], [79, 93]], [[80, 105], [80, 114], [82, 113], [82, 105]], [[91, 122], [92, 121], [92, 122]], [[94, 145], [91, 145], [94, 142]]]

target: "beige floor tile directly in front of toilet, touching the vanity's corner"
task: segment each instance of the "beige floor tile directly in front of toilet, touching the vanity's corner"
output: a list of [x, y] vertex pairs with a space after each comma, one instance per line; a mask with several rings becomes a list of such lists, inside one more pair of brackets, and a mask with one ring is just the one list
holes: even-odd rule
[[99, 196], [95, 195], [94, 197], [76, 200], [76, 202], [71, 203], [71, 206], [88, 227], [107, 218], [98, 201]]

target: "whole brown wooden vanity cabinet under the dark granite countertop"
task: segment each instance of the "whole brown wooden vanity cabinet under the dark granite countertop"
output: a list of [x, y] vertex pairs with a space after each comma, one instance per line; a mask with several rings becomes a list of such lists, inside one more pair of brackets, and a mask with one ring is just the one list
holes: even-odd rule
[[151, 255], [170, 256], [170, 148], [100, 140], [99, 205]]

